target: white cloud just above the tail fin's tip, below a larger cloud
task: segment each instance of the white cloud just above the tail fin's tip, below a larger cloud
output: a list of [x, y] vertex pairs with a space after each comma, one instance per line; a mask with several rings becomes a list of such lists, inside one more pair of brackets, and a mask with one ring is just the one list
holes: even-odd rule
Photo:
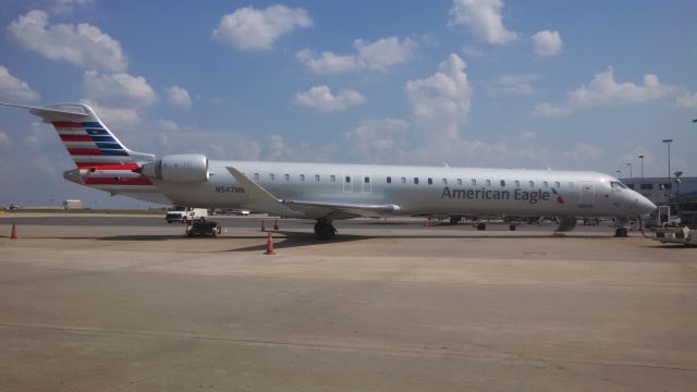
[[146, 106], [157, 101], [157, 95], [143, 76], [123, 72], [99, 74], [97, 71], [86, 71], [83, 82], [88, 98], [108, 103]]

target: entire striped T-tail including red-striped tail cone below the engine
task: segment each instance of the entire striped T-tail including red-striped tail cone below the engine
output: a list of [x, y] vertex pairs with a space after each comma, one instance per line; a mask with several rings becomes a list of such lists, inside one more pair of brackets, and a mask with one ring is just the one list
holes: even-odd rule
[[36, 108], [3, 102], [0, 106], [28, 109], [45, 123], [53, 125], [77, 167], [63, 173], [66, 180], [112, 194], [154, 189], [150, 180], [133, 170], [155, 160], [155, 155], [129, 149], [89, 106], [58, 103]]

